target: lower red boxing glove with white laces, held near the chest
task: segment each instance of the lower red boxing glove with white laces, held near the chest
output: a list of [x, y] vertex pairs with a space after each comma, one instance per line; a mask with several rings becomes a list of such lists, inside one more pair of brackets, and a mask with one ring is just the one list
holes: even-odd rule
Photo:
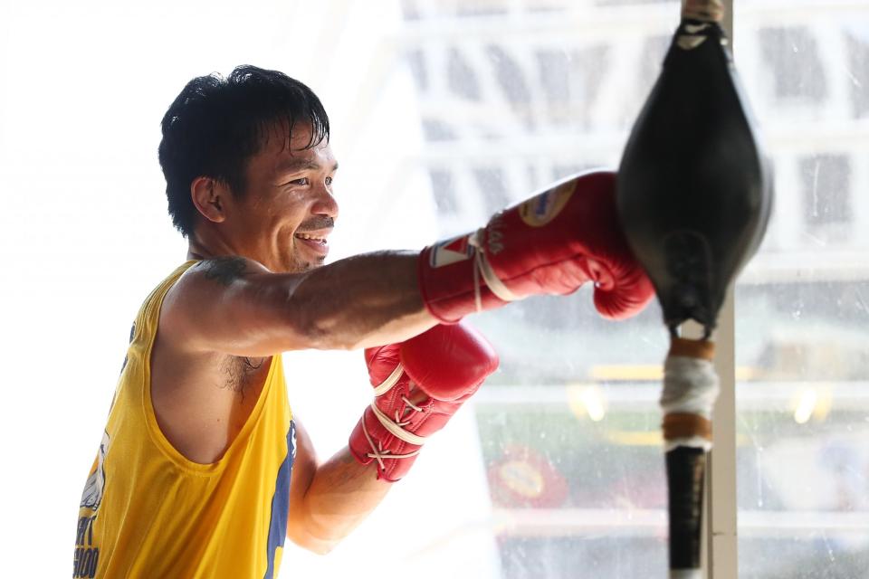
[[375, 399], [350, 433], [350, 452], [362, 464], [376, 460], [377, 478], [390, 482], [406, 475], [425, 440], [498, 367], [492, 345], [466, 324], [368, 348], [365, 360]]

